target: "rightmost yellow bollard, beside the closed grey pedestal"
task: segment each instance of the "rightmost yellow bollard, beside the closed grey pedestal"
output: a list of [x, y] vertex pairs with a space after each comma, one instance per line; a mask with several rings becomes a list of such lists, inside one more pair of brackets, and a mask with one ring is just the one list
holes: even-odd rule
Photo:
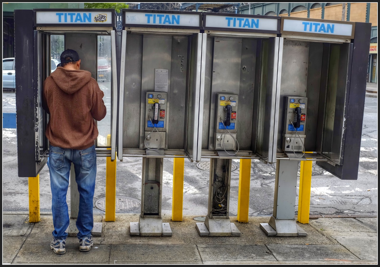
[[[306, 152], [312, 153], [312, 152]], [[300, 223], [309, 223], [312, 161], [301, 161], [299, 174], [298, 216]]]

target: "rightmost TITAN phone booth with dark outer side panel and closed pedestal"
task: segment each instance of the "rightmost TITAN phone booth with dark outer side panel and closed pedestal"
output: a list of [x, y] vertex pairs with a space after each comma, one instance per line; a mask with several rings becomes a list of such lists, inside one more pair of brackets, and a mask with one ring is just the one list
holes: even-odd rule
[[[294, 218], [298, 163], [358, 178], [371, 24], [281, 18], [271, 236], [305, 236]], [[307, 152], [305, 152], [307, 151]]]

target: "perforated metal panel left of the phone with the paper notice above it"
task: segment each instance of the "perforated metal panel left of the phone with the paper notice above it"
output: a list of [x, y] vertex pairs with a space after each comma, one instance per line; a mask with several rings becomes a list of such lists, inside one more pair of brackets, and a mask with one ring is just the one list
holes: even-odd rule
[[123, 105], [123, 148], [139, 148], [142, 35], [127, 35]]

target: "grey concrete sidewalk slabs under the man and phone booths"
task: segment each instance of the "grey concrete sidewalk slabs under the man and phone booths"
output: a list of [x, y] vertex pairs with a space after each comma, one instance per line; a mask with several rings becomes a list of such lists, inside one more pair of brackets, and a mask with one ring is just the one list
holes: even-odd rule
[[28, 223], [28, 215], [3, 214], [3, 263], [6, 264], [377, 264], [377, 217], [318, 218], [299, 224], [306, 237], [268, 237], [259, 223], [269, 217], [250, 217], [239, 223], [240, 237], [199, 237], [193, 217], [169, 222], [172, 237], [129, 235], [130, 221], [138, 214], [117, 215], [103, 222], [101, 237], [94, 237], [89, 252], [79, 252], [76, 237], [68, 237], [66, 253], [50, 249], [52, 216]]

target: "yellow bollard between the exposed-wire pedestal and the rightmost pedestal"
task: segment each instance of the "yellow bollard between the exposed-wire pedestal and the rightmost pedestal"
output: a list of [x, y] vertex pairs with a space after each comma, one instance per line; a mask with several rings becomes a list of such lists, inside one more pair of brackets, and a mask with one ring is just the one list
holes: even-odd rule
[[240, 160], [239, 194], [237, 196], [237, 221], [248, 222], [249, 190], [251, 182], [251, 160]]

